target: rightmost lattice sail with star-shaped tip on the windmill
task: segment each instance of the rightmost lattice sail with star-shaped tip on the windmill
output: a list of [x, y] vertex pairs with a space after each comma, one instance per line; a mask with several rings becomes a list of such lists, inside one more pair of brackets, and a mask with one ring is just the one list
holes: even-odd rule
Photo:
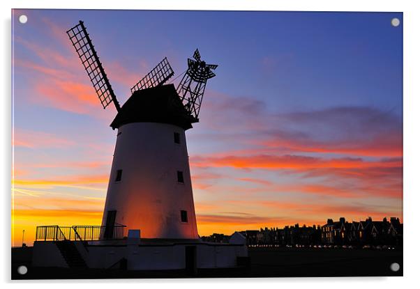
[[216, 69], [218, 65], [202, 61], [198, 49], [195, 50], [193, 58], [195, 60], [188, 58], [188, 69], [179, 82], [177, 92], [193, 121], [198, 122], [207, 79], [216, 76], [211, 69]]

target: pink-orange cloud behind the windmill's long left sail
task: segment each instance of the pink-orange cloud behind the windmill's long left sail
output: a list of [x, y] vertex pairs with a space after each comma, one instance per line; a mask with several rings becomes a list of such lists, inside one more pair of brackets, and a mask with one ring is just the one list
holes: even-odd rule
[[[43, 19], [43, 21], [48, 22], [49, 20]], [[91, 85], [80, 59], [73, 51], [70, 41], [63, 40], [66, 33], [63, 32], [63, 36], [58, 34], [59, 29], [61, 28], [55, 27], [53, 29], [55, 31], [53, 36], [57, 37], [59, 35], [61, 39], [59, 43], [71, 48], [71, 51], [67, 52], [68, 55], [44, 46], [40, 47], [22, 38], [17, 37], [15, 39], [18, 45], [23, 45], [38, 57], [37, 61], [17, 59], [14, 63], [17, 67], [37, 72], [36, 74], [33, 73], [32, 77], [36, 97], [32, 97], [31, 101], [45, 107], [53, 107], [76, 114], [87, 114], [101, 119], [106, 118], [108, 121], [112, 120], [112, 115], [115, 114], [112, 105], [107, 109], [110, 112], [104, 114], [101, 111], [96, 91]], [[123, 68], [116, 61], [109, 63], [109, 68], [113, 83], [117, 82], [126, 86], [127, 91], [140, 79], [140, 75]]]

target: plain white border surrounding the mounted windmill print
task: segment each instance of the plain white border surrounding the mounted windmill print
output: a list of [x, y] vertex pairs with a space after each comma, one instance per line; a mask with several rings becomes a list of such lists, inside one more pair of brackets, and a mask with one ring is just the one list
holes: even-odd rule
[[[176, 0], [176, 1], [141, 1], [141, 0], [118, 0], [118, 1], [57, 1], [57, 0], [14, 0], [12, 3], [1, 1], [1, 20], [3, 31], [3, 45], [1, 47], [1, 61], [3, 67], [1, 74], [2, 105], [1, 105], [1, 164], [0, 178], [3, 184], [3, 228], [1, 234], [1, 279], [10, 283], [10, 8], [84, 8], [84, 9], [157, 9], [157, 10], [306, 10], [306, 11], [392, 11], [403, 12], [404, 25], [404, 275], [403, 278], [331, 278], [331, 279], [177, 279], [177, 280], [124, 280], [126, 286], [158, 287], [197, 287], [215, 288], [219, 286], [245, 286], [257, 288], [266, 286], [285, 286], [293, 288], [325, 288], [326, 286], [338, 286], [341, 288], [354, 288], [366, 286], [380, 286], [381, 288], [411, 287], [419, 276], [417, 272], [420, 219], [417, 211], [419, 204], [420, 186], [418, 165], [420, 162], [419, 149], [419, 125], [420, 124], [420, 91], [419, 91], [419, 52], [420, 52], [420, 15], [415, 5], [416, 1], [329, 1], [329, 0], [304, 0], [304, 1], [274, 1], [274, 0]], [[214, 20], [216, 21], [216, 19]], [[4, 258], [8, 256], [8, 258]], [[47, 284], [43, 284], [46, 282]], [[54, 281], [15, 282], [17, 286], [57, 287]], [[57, 282], [57, 281], [55, 281]], [[76, 281], [60, 281], [60, 288], [80, 286]], [[121, 280], [106, 281], [79, 281], [78, 283], [103, 283], [100, 286], [112, 288], [121, 283]], [[142, 283], [137, 285], [137, 283]], [[269, 284], [270, 283], [270, 284]], [[274, 284], [273, 284], [274, 283]], [[10, 284], [7, 284], [10, 285]]]

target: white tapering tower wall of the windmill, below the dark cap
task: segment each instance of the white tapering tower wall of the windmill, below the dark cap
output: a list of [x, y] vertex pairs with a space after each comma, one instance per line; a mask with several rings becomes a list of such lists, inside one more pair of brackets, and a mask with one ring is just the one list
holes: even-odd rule
[[[174, 143], [174, 132], [181, 143]], [[115, 182], [122, 169], [121, 182]], [[184, 183], [177, 181], [183, 171]], [[140, 229], [142, 238], [198, 238], [185, 131], [164, 123], [129, 123], [119, 127], [107, 190], [106, 212], [116, 222]], [[181, 210], [188, 223], [181, 222]]]

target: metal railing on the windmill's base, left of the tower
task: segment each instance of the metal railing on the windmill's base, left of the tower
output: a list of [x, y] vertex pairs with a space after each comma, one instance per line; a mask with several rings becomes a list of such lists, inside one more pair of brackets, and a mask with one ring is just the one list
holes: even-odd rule
[[119, 240], [124, 237], [126, 226], [37, 226], [36, 241], [95, 241]]

